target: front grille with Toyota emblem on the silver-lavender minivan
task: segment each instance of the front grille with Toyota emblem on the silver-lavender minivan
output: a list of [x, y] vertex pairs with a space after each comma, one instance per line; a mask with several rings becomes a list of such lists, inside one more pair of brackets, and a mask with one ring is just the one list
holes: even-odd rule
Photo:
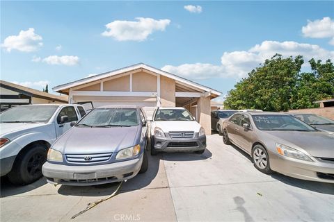
[[110, 159], [113, 153], [95, 153], [95, 154], [66, 154], [67, 162], [72, 163], [96, 163], [105, 162]]

